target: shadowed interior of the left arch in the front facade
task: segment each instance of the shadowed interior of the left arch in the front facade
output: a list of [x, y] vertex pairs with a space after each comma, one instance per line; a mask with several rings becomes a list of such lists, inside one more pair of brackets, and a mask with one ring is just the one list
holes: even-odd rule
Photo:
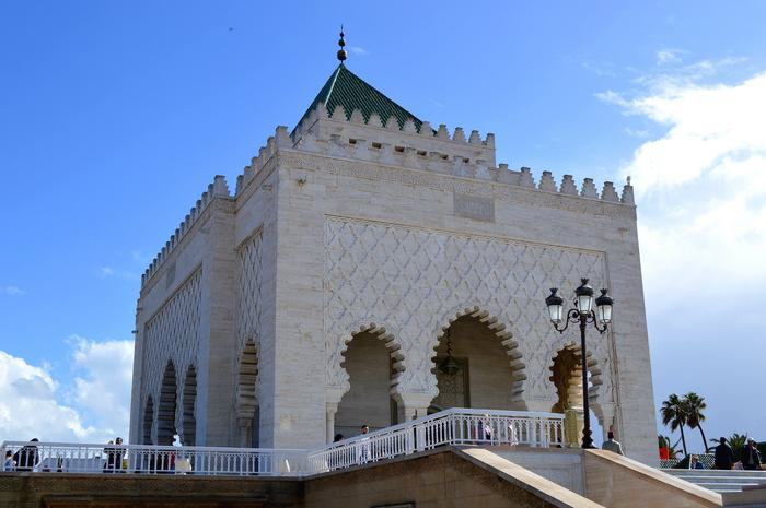
[[370, 332], [353, 335], [344, 353], [350, 389], [340, 399], [335, 414], [335, 434], [352, 437], [361, 425], [371, 430], [396, 421], [396, 405], [391, 397], [392, 362], [385, 343]]

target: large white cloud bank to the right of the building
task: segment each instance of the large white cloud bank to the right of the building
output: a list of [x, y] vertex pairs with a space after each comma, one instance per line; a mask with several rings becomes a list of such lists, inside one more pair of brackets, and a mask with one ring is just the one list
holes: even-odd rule
[[703, 61], [645, 80], [637, 96], [601, 98], [665, 130], [623, 168], [636, 186], [657, 395], [707, 397], [708, 435], [761, 435], [766, 410], [736, 401], [758, 397], [752, 348], [762, 347], [763, 311], [753, 295], [766, 286], [766, 72], [701, 84], [717, 69]]

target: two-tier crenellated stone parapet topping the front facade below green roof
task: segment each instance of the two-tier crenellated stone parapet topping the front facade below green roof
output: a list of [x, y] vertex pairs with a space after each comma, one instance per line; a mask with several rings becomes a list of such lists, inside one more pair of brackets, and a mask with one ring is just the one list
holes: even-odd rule
[[[535, 181], [529, 167], [519, 170], [509, 169], [508, 164], [496, 167], [495, 135], [488, 133], [481, 139], [474, 130], [466, 139], [460, 127], [450, 134], [446, 126], [440, 125], [433, 129], [427, 121], [417, 129], [411, 120], [399, 126], [395, 117], [383, 121], [374, 113], [365, 120], [360, 110], [349, 115], [340, 105], [329, 116], [324, 105], [318, 104], [290, 134], [290, 140], [295, 150], [310, 153], [497, 181], [542, 192], [635, 204], [629, 180], [618, 194], [612, 181], [605, 181], [599, 191], [592, 178], [585, 178], [578, 186], [572, 175], [564, 175], [557, 181], [550, 172], [545, 170]], [[258, 163], [263, 165], [265, 162]]]

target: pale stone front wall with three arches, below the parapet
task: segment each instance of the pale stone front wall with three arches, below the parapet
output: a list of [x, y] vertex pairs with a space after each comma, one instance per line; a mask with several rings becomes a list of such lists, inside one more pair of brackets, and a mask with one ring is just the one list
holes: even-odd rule
[[[346, 344], [373, 327], [384, 330], [402, 416], [423, 414], [437, 391], [432, 357], [443, 329], [474, 308], [504, 334], [509, 359], [522, 368], [514, 402], [549, 411], [553, 359], [579, 334], [555, 332], [543, 299], [548, 287], [569, 295], [589, 276], [617, 300], [612, 331], [589, 332], [594, 411], [631, 457], [655, 460], [634, 206], [343, 156], [277, 156], [285, 355], [275, 405], [283, 407], [278, 421], [306, 422], [283, 434], [288, 441], [326, 439], [318, 415], [325, 410], [330, 422], [349, 389]], [[465, 199], [475, 205], [459, 206]], [[288, 387], [306, 365], [314, 367], [302, 388]], [[316, 404], [322, 399], [326, 407]]]

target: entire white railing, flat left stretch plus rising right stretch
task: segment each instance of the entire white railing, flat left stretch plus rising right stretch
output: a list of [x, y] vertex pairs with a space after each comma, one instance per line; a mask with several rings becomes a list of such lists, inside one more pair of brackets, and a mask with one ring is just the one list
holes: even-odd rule
[[3, 470], [302, 476], [445, 445], [564, 446], [564, 415], [450, 409], [316, 450], [5, 441]]

